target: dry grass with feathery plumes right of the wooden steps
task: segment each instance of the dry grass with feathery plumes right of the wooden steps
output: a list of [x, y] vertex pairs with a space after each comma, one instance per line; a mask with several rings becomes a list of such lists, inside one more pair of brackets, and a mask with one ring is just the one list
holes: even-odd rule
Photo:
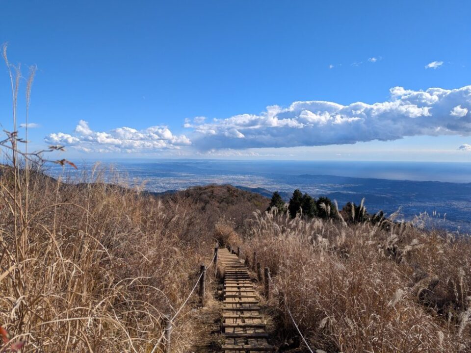
[[[471, 243], [410, 225], [390, 231], [257, 213], [243, 245], [274, 274], [311, 347], [470, 352]], [[293, 335], [286, 310], [280, 332]]]

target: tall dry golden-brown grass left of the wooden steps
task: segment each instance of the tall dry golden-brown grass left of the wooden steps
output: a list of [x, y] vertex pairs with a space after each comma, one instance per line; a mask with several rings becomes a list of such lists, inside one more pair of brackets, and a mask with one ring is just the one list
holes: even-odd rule
[[[100, 174], [79, 185], [32, 174], [26, 218], [24, 174], [16, 198], [14, 174], [3, 167], [0, 177], [2, 326], [27, 341], [25, 352], [151, 352], [161, 315], [175, 312], [212, 254], [204, 214]], [[176, 320], [175, 352], [192, 330]]]

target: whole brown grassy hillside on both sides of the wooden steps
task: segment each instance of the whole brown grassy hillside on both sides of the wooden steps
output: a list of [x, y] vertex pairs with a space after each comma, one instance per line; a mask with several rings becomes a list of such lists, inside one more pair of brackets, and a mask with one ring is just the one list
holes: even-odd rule
[[[3, 166], [0, 187], [0, 320], [22, 352], [160, 352], [161, 319], [215, 241], [270, 268], [274, 341], [298, 336], [284, 302], [325, 352], [471, 349], [467, 237], [290, 217], [230, 185], [156, 197], [99, 171], [65, 183]], [[175, 322], [172, 352], [190, 352], [192, 307]]]

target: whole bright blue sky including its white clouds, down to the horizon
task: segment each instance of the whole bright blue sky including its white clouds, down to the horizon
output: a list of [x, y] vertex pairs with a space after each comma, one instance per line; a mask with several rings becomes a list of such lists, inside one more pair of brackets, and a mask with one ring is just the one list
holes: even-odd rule
[[[37, 65], [37, 149], [471, 161], [469, 1], [0, 0], [0, 9], [10, 61], [25, 76]], [[5, 66], [0, 82], [10, 129]]]

